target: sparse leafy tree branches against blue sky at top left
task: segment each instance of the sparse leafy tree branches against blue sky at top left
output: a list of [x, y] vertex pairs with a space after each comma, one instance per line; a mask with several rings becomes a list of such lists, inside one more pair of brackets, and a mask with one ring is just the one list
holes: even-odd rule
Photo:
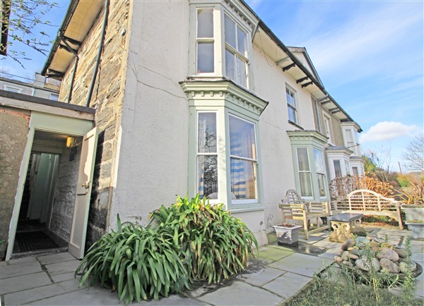
[[2, 0], [1, 1], [1, 34], [8, 34], [6, 45], [1, 44], [0, 50], [7, 53], [14, 61], [23, 66], [23, 60], [30, 60], [25, 51], [18, 51], [15, 43], [24, 44], [47, 56], [50, 41], [44, 30], [37, 30], [38, 25], [52, 26], [45, 20], [45, 15], [54, 7], [55, 2], [47, 0]]

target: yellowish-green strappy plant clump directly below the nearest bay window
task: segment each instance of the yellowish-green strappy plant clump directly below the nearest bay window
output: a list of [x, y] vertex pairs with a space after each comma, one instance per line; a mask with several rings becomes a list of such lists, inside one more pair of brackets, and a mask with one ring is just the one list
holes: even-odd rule
[[244, 271], [258, 247], [249, 228], [223, 204], [211, 205], [199, 195], [177, 197], [171, 207], [162, 206], [151, 216], [178, 240], [191, 281], [217, 283]]

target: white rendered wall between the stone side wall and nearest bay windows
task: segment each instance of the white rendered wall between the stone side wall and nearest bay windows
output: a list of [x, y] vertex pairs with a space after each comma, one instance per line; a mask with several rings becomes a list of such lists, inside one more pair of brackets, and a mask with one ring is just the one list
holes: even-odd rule
[[[111, 225], [146, 225], [148, 214], [187, 192], [188, 1], [134, 1]], [[195, 161], [192, 161], [195, 162]]]

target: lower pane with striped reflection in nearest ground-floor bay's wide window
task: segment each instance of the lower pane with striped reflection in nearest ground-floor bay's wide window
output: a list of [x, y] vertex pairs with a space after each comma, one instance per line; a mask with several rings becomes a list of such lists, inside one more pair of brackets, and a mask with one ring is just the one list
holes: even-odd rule
[[256, 199], [254, 161], [230, 159], [231, 192], [237, 200]]

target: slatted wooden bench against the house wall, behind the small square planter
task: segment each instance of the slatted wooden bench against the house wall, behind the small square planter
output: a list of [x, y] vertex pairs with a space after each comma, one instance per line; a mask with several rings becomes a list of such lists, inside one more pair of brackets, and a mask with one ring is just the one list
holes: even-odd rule
[[[279, 207], [283, 213], [283, 223], [287, 219], [301, 220], [303, 221], [303, 229], [305, 231], [305, 239], [309, 239], [309, 234], [317, 233], [329, 228], [327, 222], [326, 225], [321, 225], [319, 218], [329, 217], [329, 203], [312, 203], [306, 202], [300, 197], [296, 190], [290, 189], [286, 192], [285, 198], [281, 200]], [[317, 224], [317, 228], [310, 230], [310, 221], [314, 220]]]

